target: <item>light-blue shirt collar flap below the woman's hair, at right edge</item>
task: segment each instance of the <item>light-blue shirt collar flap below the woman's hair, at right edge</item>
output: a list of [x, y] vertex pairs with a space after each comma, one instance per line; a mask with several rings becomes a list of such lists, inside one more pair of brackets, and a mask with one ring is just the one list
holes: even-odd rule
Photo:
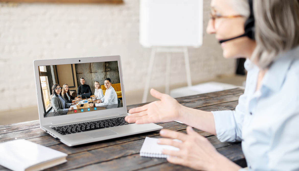
[[298, 58], [298, 55], [296, 55], [298, 53], [299, 48], [296, 47], [286, 53], [281, 54], [266, 72], [262, 81], [262, 85], [274, 92], [280, 90], [294, 59]]

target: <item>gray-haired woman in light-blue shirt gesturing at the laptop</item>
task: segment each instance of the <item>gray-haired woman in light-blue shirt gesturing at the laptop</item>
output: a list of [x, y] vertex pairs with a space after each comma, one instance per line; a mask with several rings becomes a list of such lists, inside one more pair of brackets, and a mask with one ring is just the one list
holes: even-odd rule
[[[235, 38], [246, 33], [245, 0], [211, 1], [207, 32], [221, 42], [234, 38], [221, 43], [225, 58], [247, 58], [245, 92], [235, 111], [191, 109], [152, 89], [151, 94], [161, 100], [129, 110], [132, 115], [126, 121], [182, 121], [217, 135], [220, 141], [242, 141], [248, 170], [299, 170], [299, 2], [255, 0], [253, 6], [256, 42], [248, 36]], [[180, 148], [163, 151], [171, 156], [169, 162], [196, 170], [242, 170], [192, 127], [187, 134], [160, 131], [165, 137], [160, 144]]]

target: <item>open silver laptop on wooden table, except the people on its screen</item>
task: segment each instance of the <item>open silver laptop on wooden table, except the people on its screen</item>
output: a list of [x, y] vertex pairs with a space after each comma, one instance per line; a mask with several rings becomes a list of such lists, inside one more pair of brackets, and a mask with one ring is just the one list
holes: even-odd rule
[[[130, 114], [126, 108], [120, 56], [35, 60], [33, 65], [40, 127], [67, 146], [163, 128], [153, 123], [129, 124], [124, 120], [124, 117]], [[84, 84], [81, 84], [81, 78], [84, 78]], [[111, 104], [99, 103], [99, 107], [89, 107], [88, 103], [80, 102], [62, 109], [57, 100], [51, 101], [51, 98], [54, 98], [52, 88], [54, 87], [56, 93], [57, 84], [60, 87], [67, 84], [69, 90], [76, 91], [79, 86], [89, 86], [93, 97], [94, 82], [98, 81], [99, 85], [102, 85], [105, 78], [110, 78], [113, 86], [118, 89], [117, 99], [115, 95], [111, 96]], [[71, 110], [71, 107], [74, 109]]]

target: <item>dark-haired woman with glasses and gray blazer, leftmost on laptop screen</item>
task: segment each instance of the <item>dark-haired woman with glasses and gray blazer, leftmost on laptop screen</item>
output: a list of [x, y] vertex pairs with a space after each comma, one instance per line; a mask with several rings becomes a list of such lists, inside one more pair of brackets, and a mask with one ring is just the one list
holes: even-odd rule
[[68, 111], [74, 110], [71, 105], [75, 105], [76, 103], [66, 103], [65, 100], [61, 96], [61, 87], [58, 84], [54, 84], [52, 87], [53, 97], [51, 99], [53, 110], [52, 112], [57, 112], [60, 115], [66, 115]]

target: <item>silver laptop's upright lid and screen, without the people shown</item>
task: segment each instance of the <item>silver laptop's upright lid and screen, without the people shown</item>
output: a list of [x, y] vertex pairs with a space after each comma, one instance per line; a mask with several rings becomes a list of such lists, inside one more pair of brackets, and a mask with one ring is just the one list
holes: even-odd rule
[[[41, 125], [86, 121], [127, 113], [120, 56], [35, 60], [33, 65]], [[62, 92], [63, 85], [68, 84], [69, 90], [76, 90], [77, 92], [78, 87], [82, 85], [80, 82], [81, 77], [85, 80], [85, 88], [86, 85], [89, 85], [92, 95], [95, 92], [95, 81], [98, 81], [99, 86], [101, 86], [104, 84], [105, 78], [110, 78], [113, 84], [112, 87], [117, 89], [115, 90], [117, 96], [122, 99], [121, 104], [115, 104], [114, 102], [112, 105], [96, 107], [97, 109], [85, 105], [83, 108], [78, 107], [78, 109], [71, 112], [63, 111], [63, 109], [56, 111], [54, 106], [57, 106], [57, 104], [54, 105], [51, 101], [53, 85], [59, 84], [62, 87]], [[82, 103], [81, 101], [80, 104]], [[83, 111], [81, 111], [82, 109]]]

